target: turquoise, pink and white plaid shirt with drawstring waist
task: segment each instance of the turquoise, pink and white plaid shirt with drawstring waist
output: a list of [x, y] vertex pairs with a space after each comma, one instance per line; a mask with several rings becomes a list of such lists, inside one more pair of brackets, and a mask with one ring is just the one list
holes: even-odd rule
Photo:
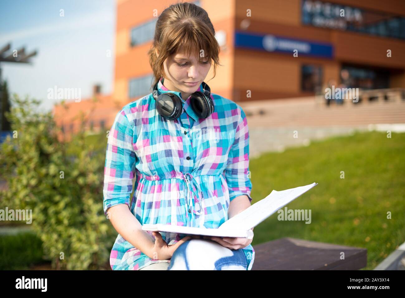
[[[168, 91], [160, 80], [158, 94]], [[181, 98], [180, 92], [173, 93]], [[199, 119], [190, 98], [182, 99], [183, 111], [177, 120], [166, 120], [158, 114], [152, 93], [119, 111], [107, 142], [105, 215], [109, 207], [127, 204], [142, 225], [218, 228], [228, 220], [231, 200], [247, 195], [252, 201], [245, 113], [232, 100], [211, 93], [214, 113]], [[160, 233], [168, 245], [186, 236]], [[249, 244], [243, 251], [250, 270], [254, 249]], [[170, 259], [151, 259], [120, 234], [110, 255], [113, 270], [139, 270], [160, 262]]]

